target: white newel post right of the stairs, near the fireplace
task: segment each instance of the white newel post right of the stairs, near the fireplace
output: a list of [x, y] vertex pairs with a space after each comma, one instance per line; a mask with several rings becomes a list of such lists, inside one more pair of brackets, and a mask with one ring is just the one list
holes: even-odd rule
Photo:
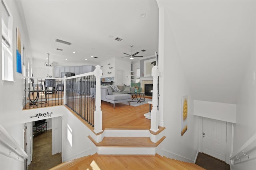
[[153, 132], [157, 132], [158, 129], [158, 119], [159, 119], [159, 113], [157, 109], [158, 101], [157, 101], [157, 84], [158, 84], [158, 76], [159, 76], [159, 70], [158, 66], [153, 66], [152, 68], [152, 77], [153, 77], [153, 96], [152, 96], [152, 110], [151, 110], [151, 125], [150, 130]]

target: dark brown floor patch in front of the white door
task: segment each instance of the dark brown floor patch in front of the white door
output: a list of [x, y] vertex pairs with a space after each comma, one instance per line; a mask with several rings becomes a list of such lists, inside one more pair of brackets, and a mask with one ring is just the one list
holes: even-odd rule
[[230, 166], [225, 162], [212, 158], [203, 153], [198, 153], [196, 164], [206, 170], [230, 170]]

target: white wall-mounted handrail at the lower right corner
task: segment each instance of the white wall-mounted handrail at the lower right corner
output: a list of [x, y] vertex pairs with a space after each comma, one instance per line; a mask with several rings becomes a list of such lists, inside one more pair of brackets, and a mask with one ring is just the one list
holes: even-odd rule
[[232, 156], [230, 160], [233, 164], [246, 162], [248, 160], [256, 159], [256, 133], [248, 140], [242, 147], [240, 147]]

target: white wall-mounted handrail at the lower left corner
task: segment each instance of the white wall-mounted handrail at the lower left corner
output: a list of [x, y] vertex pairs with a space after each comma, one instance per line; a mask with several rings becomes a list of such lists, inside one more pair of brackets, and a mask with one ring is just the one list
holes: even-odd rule
[[[9, 149], [8, 153], [2, 152], [1, 154], [14, 158], [20, 162], [18, 158], [21, 157], [23, 160], [28, 158], [28, 154], [20, 147], [20, 145], [15, 141], [15, 139], [0, 125], [0, 142], [3, 146]], [[12, 156], [12, 152], [18, 155], [18, 158]]]

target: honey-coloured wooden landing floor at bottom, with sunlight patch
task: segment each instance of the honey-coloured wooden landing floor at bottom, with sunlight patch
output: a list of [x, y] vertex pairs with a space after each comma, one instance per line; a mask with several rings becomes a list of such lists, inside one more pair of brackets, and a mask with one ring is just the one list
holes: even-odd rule
[[50, 170], [204, 170], [204, 168], [156, 154], [85, 156], [64, 162]]

